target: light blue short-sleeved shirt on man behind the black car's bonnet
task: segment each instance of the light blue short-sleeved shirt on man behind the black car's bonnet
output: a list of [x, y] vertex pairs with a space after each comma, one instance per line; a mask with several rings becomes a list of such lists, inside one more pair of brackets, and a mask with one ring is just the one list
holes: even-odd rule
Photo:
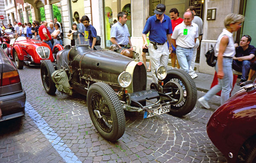
[[110, 38], [115, 38], [119, 45], [127, 45], [129, 43], [130, 33], [126, 24], [119, 21], [115, 23], [110, 30]]

